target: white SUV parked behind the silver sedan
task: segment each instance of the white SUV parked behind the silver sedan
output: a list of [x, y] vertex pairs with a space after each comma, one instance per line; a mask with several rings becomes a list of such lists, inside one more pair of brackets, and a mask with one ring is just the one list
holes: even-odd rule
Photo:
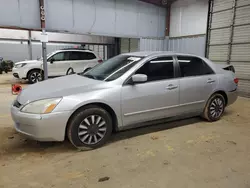
[[[48, 76], [57, 77], [87, 71], [101, 63], [95, 52], [85, 49], [57, 50], [47, 55]], [[15, 78], [28, 80], [33, 84], [43, 80], [43, 59], [15, 63]]]

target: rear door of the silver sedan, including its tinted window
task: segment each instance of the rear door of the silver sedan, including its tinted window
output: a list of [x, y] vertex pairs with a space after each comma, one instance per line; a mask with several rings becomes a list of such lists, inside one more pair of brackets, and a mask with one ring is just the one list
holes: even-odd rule
[[180, 69], [180, 108], [201, 111], [217, 85], [214, 71], [198, 57], [177, 56]]

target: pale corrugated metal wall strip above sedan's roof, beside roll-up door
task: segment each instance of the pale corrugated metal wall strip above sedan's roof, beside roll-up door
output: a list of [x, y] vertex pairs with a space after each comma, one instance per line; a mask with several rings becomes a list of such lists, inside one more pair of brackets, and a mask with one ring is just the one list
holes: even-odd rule
[[168, 50], [205, 56], [206, 36], [170, 38]]

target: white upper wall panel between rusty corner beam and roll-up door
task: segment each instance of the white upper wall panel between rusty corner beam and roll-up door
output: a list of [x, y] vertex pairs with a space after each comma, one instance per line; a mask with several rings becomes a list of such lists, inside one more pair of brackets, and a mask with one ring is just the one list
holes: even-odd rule
[[177, 0], [171, 6], [170, 37], [205, 34], [208, 0]]

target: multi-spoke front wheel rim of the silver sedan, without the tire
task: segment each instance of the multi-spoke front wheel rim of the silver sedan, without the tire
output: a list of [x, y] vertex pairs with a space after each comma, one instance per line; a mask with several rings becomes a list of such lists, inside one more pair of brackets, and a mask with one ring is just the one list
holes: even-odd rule
[[78, 128], [78, 137], [82, 143], [93, 145], [100, 142], [107, 131], [105, 120], [99, 115], [86, 117]]

